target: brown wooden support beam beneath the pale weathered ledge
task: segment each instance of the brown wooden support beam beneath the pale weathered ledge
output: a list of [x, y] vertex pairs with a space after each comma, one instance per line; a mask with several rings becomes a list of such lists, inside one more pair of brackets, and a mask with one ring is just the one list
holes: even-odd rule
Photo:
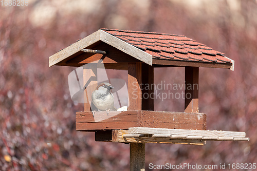
[[120, 143], [161, 143], [161, 144], [188, 144], [188, 145], [205, 145], [205, 141], [201, 140], [171, 140], [171, 139], [156, 139], [154, 137], [144, 138], [123, 138], [123, 135], [128, 134], [128, 130], [113, 130], [113, 142]]

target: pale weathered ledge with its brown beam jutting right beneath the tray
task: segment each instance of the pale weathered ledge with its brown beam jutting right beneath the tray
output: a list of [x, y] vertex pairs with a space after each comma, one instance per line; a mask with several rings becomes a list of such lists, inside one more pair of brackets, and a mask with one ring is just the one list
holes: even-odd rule
[[236, 131], [133, 127], [113, 130], [112, 142], [205, 145], [206, 141], [249, 141], [245, 136]]

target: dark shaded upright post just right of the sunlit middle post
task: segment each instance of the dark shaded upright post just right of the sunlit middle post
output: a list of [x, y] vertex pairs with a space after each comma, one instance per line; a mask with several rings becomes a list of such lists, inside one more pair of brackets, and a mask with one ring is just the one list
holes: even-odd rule
[[154, 110], [154, 89], [149, 85], [154, 84], [154, 67], [142, 63], [142, 110]]

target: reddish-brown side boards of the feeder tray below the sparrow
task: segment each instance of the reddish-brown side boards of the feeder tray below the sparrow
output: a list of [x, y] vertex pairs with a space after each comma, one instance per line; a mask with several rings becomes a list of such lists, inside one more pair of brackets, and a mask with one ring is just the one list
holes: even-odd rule
[[133, 110], [108, 113], [96, 111], [93, 117], [92, 112], [76, 112], [76, 130], [95, 131], [130, 127], [206, 130], [206, 114]]

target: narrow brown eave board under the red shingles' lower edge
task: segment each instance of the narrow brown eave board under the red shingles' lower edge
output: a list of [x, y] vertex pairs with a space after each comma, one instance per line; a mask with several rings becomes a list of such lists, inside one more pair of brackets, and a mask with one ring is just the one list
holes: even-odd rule
[[233, 70], [233, 64], [223, 63], [207, 63], [207, 62], [192, 62], [192, 61], [175, 61], [175, 60], [160, 60], [153, 59], [154, 67], [168, 66], [189, 66], [189, 67], [208, 67], [208, 68], [227, 68]]

